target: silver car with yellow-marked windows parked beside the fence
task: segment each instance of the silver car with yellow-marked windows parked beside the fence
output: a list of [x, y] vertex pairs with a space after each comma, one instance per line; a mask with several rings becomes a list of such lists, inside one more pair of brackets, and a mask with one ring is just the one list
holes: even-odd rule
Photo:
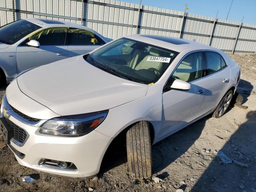
[[12, 22], [0, 28], [0, 81], [10, 82], [24, 70], [86, 54], [107, 42], [94, 30], [70, 22]]

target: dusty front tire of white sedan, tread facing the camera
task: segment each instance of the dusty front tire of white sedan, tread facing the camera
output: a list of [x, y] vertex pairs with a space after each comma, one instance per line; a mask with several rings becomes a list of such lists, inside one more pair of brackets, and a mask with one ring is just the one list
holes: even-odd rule
[[149, 124], [140, 121], [126, 133], [127, 159], [130, 174], [138, 178], [152, 175], [152, 157]]

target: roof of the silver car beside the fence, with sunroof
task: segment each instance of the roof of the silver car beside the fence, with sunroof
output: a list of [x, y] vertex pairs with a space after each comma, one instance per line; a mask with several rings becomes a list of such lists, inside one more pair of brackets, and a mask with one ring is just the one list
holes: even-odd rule
[[50, 28], [50, 27], [69, 27], [69, 28], [80, 28], [80, 29], [85, 29], [85, 30], [89, 30], [89, 31], [93, 31], [94, 30], [83, 26], [83, 25], [79, 25], [76, 23], [71, 23], [71, 22], [66, 22], [66, 21], [58, 21], [58, 20], [47, 20], [47, 19], [35, 19], [35, 18], [27, 18], [24, 19], [27, 20], [31, 23], [34, 23], [36, 25], [39, 25], [43, 28]]

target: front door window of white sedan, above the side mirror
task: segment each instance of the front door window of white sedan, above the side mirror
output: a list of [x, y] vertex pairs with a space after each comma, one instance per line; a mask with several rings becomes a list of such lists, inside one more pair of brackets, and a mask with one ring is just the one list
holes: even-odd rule
[[194, 52], [186, 56], [172, 74], [171, 81], [193, 81], [202, 77], [202, 52]]

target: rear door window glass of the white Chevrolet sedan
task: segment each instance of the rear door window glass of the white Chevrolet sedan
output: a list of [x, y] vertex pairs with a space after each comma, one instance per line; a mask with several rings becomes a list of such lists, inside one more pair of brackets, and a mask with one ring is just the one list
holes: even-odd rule
[[221, 65], [221, 56], [215, 52], [204, 52], [205, 62], [206, 62], [206, 75], [212, 74], [220, 69]]

